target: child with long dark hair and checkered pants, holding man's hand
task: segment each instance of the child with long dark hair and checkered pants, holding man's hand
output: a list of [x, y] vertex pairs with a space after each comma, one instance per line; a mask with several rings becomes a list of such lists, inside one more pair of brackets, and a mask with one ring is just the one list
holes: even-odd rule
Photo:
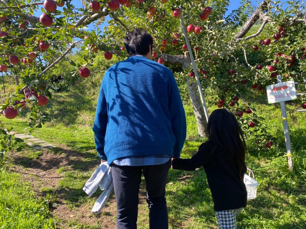
[[208, 140], [190, 159], [174, 158], [173, 169], [204, 167], [219, 229], [235, 229], [236, 216], [247, 203], [243, 182], [246, 144], [237, 119], [227, 109], [213, 111], [208, 119]]

